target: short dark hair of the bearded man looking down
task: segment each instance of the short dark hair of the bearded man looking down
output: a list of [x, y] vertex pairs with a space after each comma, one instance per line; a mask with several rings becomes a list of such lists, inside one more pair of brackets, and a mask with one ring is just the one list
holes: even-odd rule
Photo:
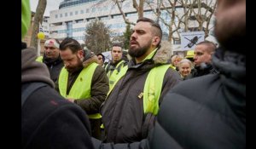
[[60, 44], [60, 50], [71, 49], [72, 53], [77, 53], [82, 49], [80, 43], [72, 37], [66, 37]]

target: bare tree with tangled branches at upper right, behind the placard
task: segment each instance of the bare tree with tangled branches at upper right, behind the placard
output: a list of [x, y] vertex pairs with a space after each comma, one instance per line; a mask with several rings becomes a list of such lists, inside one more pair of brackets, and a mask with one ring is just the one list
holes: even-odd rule
[[[183, 32], [204, 31], [205, 37], [207, 37], [210, 20], [216, 8], [216, 0], [208, 2], [207, 0], [158, 0], [158, 3], [150, 1], [146, 3], [157, 16], [157, 20], [166, 26], [168, 41], [172, 42], [172, 40], [180, 40], [179, 29], [183, 29]], [[160, 14], [168, 14], [169, 20], [166, 20], [166, 15]], [[198, 26], [191, 26], [195, 20], [198, 22]], [[203, 27], [204, 23], [206, 23], [206, 27]]]

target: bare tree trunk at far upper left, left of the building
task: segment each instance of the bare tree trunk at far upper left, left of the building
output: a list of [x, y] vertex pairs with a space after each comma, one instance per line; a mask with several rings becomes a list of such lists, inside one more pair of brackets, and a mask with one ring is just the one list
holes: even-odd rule
[[32, 47], [36, 47], [36, 48], [38, 47], [37, 35], [39, 30], [39, 24], [42, 24], [46, 4], [47, 4], [46, 0], [39, 0], [38, 2], [38, 7], [36, 9], [36, 14], [35, 14], [33, 26], [32, 26], [32, 37], [30, 42], [30, 46]]

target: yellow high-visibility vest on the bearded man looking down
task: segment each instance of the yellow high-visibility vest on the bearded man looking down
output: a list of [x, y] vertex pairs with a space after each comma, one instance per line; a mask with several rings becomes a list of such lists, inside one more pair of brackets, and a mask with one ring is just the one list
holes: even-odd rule
[[[96, 66], [98, 64], [91, 63], [90, 66], [84, 68], [80, 73], [79, 77], [77, 77], [76, 81], [73, 83], [72, 88], [67, 95], [67, 80], [68, 80], [68, 72], [65, 67], [61, 69], [60, 77], [59, 77], [59, 89], [60, 94], [65, 98], [73, 98], [73, 99], [85, 99], [89, 98], [90, 95], [90, 84], [92, 80], [93, 73], [96, 70]], [[90, 114], [89, 118], [96, 119], [101, 118], [102, 116], [99, 113]]]

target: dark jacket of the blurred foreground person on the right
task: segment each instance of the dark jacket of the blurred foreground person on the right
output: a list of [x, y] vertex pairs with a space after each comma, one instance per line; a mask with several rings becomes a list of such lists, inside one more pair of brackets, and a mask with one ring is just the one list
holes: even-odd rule
[[212, 62], [219, 74], [189, 79], [167, 93], [148, 139], [116, 145], [93, 139], [94, 146], [104, 149], [246, 148], [246, 56], [218, 51]]

